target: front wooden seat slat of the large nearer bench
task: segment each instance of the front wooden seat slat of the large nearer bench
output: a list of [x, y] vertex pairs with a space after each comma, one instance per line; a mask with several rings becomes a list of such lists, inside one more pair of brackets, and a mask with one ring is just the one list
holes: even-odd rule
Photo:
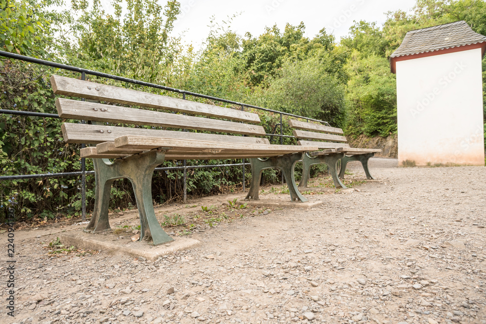
[[200, 152], [234, 152], [234, 153], [250, 153], [250, 152], [264, 152], [276, 154], [288, 154], [294, 152], [316, 151], [317, 147], [303, 148], [301, 146], [293, 145], [273, 145], [273, 144], [243, 144], [230, 142], [214, 142], [205, 140], [189, 140], [180, 138], [163, 138], [163, 137], [148, 137], [148, 136], [131, 136], [125, 135], [115, 138], [115, 146], [117, 148], [141, 149], [150, 150], [159, 147], [171, 147], [171, 151], [200, 151]]

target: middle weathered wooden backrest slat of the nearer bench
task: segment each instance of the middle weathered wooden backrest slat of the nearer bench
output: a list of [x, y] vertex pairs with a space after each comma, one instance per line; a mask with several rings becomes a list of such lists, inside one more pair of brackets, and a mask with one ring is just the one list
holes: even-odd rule
[[65, 119], [86, 119], [131, 125], [185, 128], [251, 136], [265, 135], [263, 127], [258, 125], [144, 109], [126, 108], [95, 102], [82, 102], [79, 100], [58, 98], [56, 100], [56, 108], [59, 117]]

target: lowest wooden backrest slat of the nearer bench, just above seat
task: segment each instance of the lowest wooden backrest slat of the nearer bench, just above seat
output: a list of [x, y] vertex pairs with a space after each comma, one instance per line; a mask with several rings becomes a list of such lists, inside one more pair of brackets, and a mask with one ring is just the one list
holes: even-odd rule
[[[199, 134], [191, 132], [162, 131], [158, 129], [116, 127], [107, 125], [73, 124], [65, 122], [61, 126], [64, 140], [67, 143], [98, 144], [113, 142], [116, 137], [123, 135], [160, 136], [172, 138], [187, 138], [195, 140], [211, 140], [232, 143], [246, 143], [253, 145], [270, 144], [267, 138], [243, 137], [218, 134]], [[101, 132], [103, 131], [103, 133]], [[108, 133], [110, 132], [110, 133]]]

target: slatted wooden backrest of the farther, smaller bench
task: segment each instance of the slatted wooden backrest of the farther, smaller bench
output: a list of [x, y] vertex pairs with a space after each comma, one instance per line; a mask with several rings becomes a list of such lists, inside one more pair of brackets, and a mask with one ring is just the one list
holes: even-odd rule
[[312, 124], [310, 122], [289, 120], [289, 126], [302, 146], [317, 146], [319, 149], [348, 148], [347, 139], [341, 128]]

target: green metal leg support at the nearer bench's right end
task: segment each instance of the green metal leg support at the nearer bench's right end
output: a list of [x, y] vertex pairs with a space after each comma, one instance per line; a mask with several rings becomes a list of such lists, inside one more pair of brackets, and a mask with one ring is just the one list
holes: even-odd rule
[[302, 159], [303, 153], [292, 153], [282, 156], [269, 157], [268, 159], [252, 158], [251, 165], [251, 186], [245, 199], [258, 200], [258, 192], [260, 188], [261, 172], [265, 169], [278, 168], [283, 172], [283, 176], [289, 187], [290, 199], [295, 202], [307, 202], [298, 190], [294, 182], [294, 168], [295, 163]]

